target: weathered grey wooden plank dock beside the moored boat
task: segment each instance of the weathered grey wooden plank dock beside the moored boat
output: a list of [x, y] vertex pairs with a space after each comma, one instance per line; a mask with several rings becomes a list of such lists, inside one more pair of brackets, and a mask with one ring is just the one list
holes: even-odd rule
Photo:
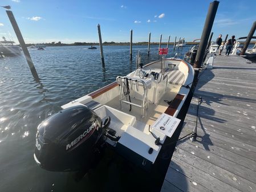
[[196, 125], [197, 141], [178, 142], [165, 191], [256, 191], [256, 63], [217, 56], [201, 72], [180, 137]]

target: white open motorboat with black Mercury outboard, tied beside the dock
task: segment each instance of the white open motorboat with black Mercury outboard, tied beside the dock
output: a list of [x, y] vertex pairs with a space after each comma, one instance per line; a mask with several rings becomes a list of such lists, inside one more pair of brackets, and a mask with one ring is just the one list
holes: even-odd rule
[[35, 161], [46, 170], [76, 171], [90, 167], [95, 153], [107, 146], [147, 169], [180, 123], [176, 117], [193, 78], [193, 67], [178, 59], [158, 60], [117, 76], [38, 126]]

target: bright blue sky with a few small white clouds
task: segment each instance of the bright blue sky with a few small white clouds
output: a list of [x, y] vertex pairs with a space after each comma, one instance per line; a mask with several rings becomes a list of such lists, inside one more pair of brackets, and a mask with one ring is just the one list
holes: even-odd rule
[[[171, 40], [177, 36], [192, 41], [200, 38], [209, 0], [1, 0], [11, 11], [26, 43], [99, 42], [97, 24], [103, 42]], [[256, 21], [256, 1], [220, 0], [213, 24], [213, 39], [219, 34], [247, 36]], [[1, 8], [1, 7], [0, 7]], [[0, 35], [18, 42], [5, 9], [0, 9]]]

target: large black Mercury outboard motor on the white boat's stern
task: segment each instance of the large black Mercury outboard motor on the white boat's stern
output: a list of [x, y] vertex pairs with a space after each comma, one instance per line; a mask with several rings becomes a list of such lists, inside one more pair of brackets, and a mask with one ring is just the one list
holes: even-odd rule
[[88, 169], [103, 144], [110, 118], [100, 117], [84, 105], [64, 109], [38, 125], [34, 158], [43, 169], [79, 171]]

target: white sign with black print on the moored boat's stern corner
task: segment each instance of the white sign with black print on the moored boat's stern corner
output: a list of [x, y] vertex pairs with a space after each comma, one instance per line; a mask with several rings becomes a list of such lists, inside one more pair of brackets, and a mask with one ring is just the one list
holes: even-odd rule
[[174, 130], [176, 130], [178, 124], [180, 124], [180, 119], [170, 116], [166, 113], [162, 115], [155, 121], [152, 128], [164, 133], [168, 137], [172, 137]]

